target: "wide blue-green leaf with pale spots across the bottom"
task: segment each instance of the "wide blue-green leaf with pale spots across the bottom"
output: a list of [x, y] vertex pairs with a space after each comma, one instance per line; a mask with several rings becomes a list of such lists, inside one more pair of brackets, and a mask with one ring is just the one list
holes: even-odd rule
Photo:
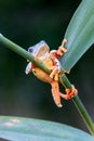
[[94, 141], [79, 129], [39, 119], [0, 116], [0, 138], [12, 141]]

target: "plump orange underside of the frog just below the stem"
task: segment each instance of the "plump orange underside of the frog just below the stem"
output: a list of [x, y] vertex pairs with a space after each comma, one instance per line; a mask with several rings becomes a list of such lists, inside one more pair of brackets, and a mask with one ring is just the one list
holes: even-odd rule
[[46, 74], [45, 72], [43, 72], [42, 69], [40, 69], [39, 67], [32, 68], [32, 73], [37, 78], [39, 78], [40, 80], [42, 80], [44, 82], [51, 84], [53, 81], [53, 79], [50, 77], [50, 75]]

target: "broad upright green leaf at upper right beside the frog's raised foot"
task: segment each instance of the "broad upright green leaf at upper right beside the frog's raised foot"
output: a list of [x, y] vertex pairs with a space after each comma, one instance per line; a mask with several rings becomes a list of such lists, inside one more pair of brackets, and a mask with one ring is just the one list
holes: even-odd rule
[[94, 0], [82, 0], [66, 30], [67, 53], [61, 59], [62, 66], [69, 70], [94, 43]]

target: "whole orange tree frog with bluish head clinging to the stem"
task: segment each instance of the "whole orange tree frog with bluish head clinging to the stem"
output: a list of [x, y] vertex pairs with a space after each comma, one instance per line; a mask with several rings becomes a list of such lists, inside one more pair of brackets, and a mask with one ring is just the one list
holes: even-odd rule
[[52, 70], [50, 75], [43, 72], [35, 63], [31, 62], [27, 64], [25, 70], [26, 74], [32, 72], [35, 76], [38, 77], [40, 80], [49, 82], [51, 85], [52, 95], [55, 104], [58, 107], [62, 107], [61, 98], [65, 100], [69, 100], [72, 97], [75, 97], [77, 93], [77, 89], [75, 87], [72, 87], [71, 90], [66, 89], [66, 94], [63, 94], [59, 91], [58, 74], [61, 73], [62, 66], [58, 59], [67, 51], [67, 49], [64, 48], [64, 44], [66, 42], [67, 40], [64, 39], [62, 46], [57, 50], [52, 50], [52, 51], [50, 51], [50, 48], [45, 43], [45, 41], [40, 41], [36, 46], [28, 48], [28, 52], [31, 53], [35, 56], [35, 59], [40, 60], [42, 63], [46, 65], [49, 69]]

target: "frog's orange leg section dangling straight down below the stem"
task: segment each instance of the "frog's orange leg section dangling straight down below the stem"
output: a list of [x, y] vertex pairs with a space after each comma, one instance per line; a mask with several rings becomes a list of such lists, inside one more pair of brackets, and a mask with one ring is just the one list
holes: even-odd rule
[[59, 92], [58, 81], [52, 81], [51, 86], [52, 86], [52, 94], [53, 94], [54, 102], [58, 107], [62, 107], [62, 103], [61, 103], [62, 93]]

